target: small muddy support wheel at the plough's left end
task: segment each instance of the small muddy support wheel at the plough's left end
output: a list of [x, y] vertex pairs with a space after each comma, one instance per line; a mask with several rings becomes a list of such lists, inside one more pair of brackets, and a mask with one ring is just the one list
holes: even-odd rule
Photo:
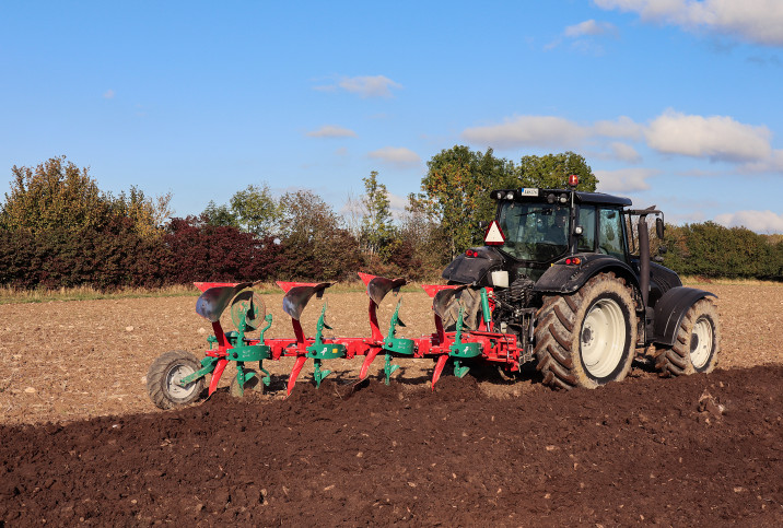
[[186, 387], [177, 382], [201, 368], [201, 362], [183, 350], [173, 350], [157, 357], [147, 373], [147, 392], [152, 402], [161, 409], [187, 406], [198, 399], [203, 390], [203, 377]]

